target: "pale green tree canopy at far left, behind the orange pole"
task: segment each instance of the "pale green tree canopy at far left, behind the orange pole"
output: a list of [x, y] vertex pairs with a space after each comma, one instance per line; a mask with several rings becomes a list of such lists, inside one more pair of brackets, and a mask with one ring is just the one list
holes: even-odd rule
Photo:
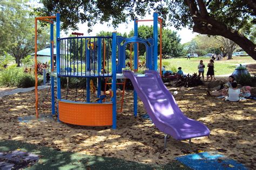
[[[35, 19], [26, 1], [4, 0], [0, 9], [0, 55], [8, 52], [19, 66], [20, 60], [35, 50]], [[41, 29], [38, 32], [38, 49], [45, 47], [49, 39], [49, 29]]]

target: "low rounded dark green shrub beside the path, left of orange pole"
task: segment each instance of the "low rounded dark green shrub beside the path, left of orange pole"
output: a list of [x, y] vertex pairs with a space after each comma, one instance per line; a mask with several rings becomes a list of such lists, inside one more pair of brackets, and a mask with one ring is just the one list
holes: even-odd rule
[[[42, 83], [42, 80], [38, 80], [38, 85]], [[19, 88], [28, 88], [35, 86], [35, 76], [32, 74], [23, 74], [19, 77], [17, 82], [17, 87]]]

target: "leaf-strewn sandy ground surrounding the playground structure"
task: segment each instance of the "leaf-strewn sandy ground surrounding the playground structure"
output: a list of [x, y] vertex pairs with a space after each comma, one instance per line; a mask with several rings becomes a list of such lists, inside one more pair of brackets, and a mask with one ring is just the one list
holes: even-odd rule
[[[170, 87], [169, 87], [170, 88]], [[174, 91], [176, 88], [170, 88]], [[39, 91], [44, 98], [48, 90]], [[256, 100], [231, 103], [206, 96], [205, 86], [178, 90], [175, 97], [184, 114], [203, 122], [210, 130], [207, 137], [188, 141], [170, 138], [164, 147], [164, 134], [140, 115], [146, 113], [139, 100], [138, 117], [133, 117], [132, 92], [127, 91], [123, 113], [117, 115], [117, 130], [111, 127], [82, 127], [31, 121], [19, 123], [18, 117], [35, 114], [34, 92], [0, 99], [0, 140], [9, 139], [49, 146], [62, 151], [100, 155], [147, 164], [167, 164], [179, 155], [218, 151], [248, 168], [256, 168]], [[49, 105], [40, 104], [39, 114], [50, 114]]]

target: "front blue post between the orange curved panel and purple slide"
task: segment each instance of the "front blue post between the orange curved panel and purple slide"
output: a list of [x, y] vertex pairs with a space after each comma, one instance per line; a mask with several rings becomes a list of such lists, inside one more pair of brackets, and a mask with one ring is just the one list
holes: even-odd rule
[[117, 128], [117, 64], [116, 64], [116, 58], [117, 58], [117, 33], [113, 32], [112, 33], [112, 103], [113, 103], [113, 108], [112, 108], [112, 128], [116, 129]]

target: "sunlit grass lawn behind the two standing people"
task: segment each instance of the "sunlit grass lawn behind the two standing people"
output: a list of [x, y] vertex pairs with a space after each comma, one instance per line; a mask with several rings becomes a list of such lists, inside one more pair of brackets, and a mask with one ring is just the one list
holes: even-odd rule
[[[207, 64], [209, 63], [209, 57], [198, 57], [198, 58], [172, 58], [172, 59], [163, 59], [162, 64], [166, 66], [166, 70], [172, 70], [172, 67], [182, 67], [183, 72], [185, 73], [194, 73], [198, 72], [197, 66], [200, 60], [204, 60], [205, 74], [207, 72]], [[251, 57], [233, 57], [232, 60], [223, 59], [220, 61], [215, 61], [214, 63], [214, 70], [215, 75], [223, 75], [223, 74], [231, 74], [236, 64], [240, 63], [255, 63], [256, 61]]]

